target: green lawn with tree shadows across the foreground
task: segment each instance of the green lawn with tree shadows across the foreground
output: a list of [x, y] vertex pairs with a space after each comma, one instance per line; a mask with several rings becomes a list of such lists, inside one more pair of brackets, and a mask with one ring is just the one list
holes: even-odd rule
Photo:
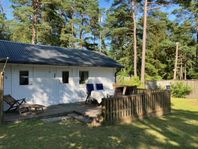
[[173, 99], [172, 114], [131, 125], [91, 128], [76, 121], [0, 126], [0, 148], [198, 148], [198, 99]]

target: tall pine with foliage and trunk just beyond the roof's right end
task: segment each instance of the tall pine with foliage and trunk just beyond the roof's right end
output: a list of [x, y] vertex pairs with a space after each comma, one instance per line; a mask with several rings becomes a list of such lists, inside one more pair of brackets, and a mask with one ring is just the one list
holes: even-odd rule
[[[109, 10], [107, 19], [107, 25], [110, 28], [109, 35], [111, 37], [112, 54], [114, 56], [118, 55], [117, 59], [120, 59], [122, 63], [127, 65], [124, 72], [125, 75], [130, 76], [132, 74], [136, 76], [137, 74], [137, 53], [140, 53], [137, 52], [137, 47], [139, 46], [137, 40], [140, 39], [137, 37], [138, 33], [136, 32], [136, 29], [139, 28], [136, 22], [137, 15], [135, 14], [137, 9], [137, 3], [134, 3], [134, 1], [115, 0]], [[138, 30], [138, 32], [140, 31]]]

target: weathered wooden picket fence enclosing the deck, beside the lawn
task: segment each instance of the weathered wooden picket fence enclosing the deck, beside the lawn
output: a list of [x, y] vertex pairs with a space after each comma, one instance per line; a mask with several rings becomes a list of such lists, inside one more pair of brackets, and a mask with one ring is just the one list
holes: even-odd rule
[[139, 90], [140, 94], [102, 100], [104, 121], [129, 123], [145, 116], [170, 113], [170, 93], [164, 90]]

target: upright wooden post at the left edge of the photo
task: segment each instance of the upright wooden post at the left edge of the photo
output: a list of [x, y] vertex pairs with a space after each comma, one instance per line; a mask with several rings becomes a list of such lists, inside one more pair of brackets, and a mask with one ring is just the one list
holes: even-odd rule
[[3, 74], [0, 73], [0, 124], [3, 122]]

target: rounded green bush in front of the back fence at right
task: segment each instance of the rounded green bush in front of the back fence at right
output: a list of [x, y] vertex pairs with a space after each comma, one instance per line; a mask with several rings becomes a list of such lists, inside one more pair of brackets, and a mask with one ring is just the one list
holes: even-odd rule
[[184, 98], [186, 95], [189, 95], [191, 88], [188, 85], [185, 85], [181, 82], [171, 85], [171, 94], [173, 97]]

